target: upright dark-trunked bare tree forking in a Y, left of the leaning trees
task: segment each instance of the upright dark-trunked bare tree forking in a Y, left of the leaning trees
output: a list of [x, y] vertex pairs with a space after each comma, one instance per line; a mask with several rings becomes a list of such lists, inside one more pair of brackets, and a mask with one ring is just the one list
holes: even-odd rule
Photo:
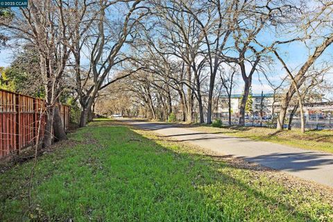
[[[246, 102], [255, 72], [263, 73], [267, 54], [271, 46], [264, 46], [259, 35], [275, 26], [282, 26], [284, 18], [290, 16], [288, 2], [276, 1], [235, 1], [232, 8], [232, 46], [222, 52], [226, 62], [239, 65], [244, 80], [244, 93], [239, 111], [239, 125], [245, 124]], [[275, 42], [277, 44], [278, 42]], [[280, 42], [279, 42], [280, 43]], [[282, 43], [282, 42], [281, 42]]]

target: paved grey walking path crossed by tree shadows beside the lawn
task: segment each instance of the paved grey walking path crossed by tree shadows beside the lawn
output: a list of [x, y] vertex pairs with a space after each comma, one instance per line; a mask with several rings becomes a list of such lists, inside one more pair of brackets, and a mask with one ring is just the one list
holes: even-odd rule
[[[133, 126], [207, 148], [219, 155], [233, 155], [248, 162], [257, 162], [306, 180], [333, 187], [333, 155], [303, 150], [270, 142], [230, 137], [223, 134], [203, 133], [180, 126], [126, 120]], [[333, 146], [333, 144], [332, 144]]]

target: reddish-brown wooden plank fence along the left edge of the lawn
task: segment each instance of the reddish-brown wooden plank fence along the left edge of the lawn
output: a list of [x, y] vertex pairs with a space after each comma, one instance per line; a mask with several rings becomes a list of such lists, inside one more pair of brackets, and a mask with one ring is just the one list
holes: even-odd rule
[[[0, 158], [11, 151], [19, 153], [35, 144], [40, 111], [45, 110], [44, 100], [0, 89]], [[62, 126], [69, 124], [69, 107], [60, 105]], [[40, 141], [44, 138], [46, 115], [42, 115]]]

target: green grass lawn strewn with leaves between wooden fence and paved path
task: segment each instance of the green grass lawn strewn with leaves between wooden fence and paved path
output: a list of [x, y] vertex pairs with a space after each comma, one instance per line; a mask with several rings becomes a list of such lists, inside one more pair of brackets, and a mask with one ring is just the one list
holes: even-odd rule
[[32, 162], [0, 174], [0, 221], [333, 221], [333, 207], [306, 187], [287, 189], [250, 169], [96, 121]]

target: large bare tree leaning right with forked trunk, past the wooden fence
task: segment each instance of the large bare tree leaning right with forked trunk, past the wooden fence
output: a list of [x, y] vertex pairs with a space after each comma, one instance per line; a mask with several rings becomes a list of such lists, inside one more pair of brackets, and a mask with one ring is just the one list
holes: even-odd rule
[[[141, 1], [100, 1], [96, 30], [89, 40], [91, 75], [93, 84], [87, 90], [80, 89], [80, 105], [82, 107], [80, 126], [87, 123], [88, 112], [92, 108], [94, 99], [99, 90], [107, 87], [115, 81], [128, 75], [111, 78], [112, 68], [119, 65], [126, 58], [120, 58], [119, 54], [126, 41], [132, 41], [135, 37], [136, 24], [146, 15], [146, 7], [140, 6]], [[116, 7], [122, 8], [122, 12], [112, 13]], [[125, 11], [125, 15], [123, 15]], [[116, 22], [115, 22], [116, 21]]]

